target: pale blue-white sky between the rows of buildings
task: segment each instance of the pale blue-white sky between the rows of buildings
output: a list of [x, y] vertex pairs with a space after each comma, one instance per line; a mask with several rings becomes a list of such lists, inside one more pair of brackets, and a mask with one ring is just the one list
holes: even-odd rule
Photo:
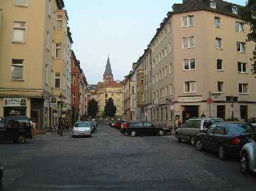
[[[123, 80], [156, 29], [182, 0], [64, 0], [73, 50], [87, 82], [102, 81], [108, 55], [115, 80]], [[232, 0], [244, 5], [246, 0]]]

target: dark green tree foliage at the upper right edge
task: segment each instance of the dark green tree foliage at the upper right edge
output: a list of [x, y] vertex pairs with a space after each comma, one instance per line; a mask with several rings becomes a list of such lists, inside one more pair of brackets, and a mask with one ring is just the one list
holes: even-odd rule
[[[247, 41], [256, 42], [256, 1], [248, 0], [246, 6], [241, 7], [240, 16], [251, 27], [250, 32], [247, 34]], [[252, 73], [256, 74], [256, 50], [254, 50], [252, 61], [254, 62], [252, 64]]]

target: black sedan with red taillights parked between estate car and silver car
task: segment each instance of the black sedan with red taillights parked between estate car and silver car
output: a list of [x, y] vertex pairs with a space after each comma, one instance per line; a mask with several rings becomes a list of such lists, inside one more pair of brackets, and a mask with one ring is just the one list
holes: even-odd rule
[[196, 149], [214, 151], [221, 160], [228, 156], [239, 156], [243, 145], [256, 135], [250, 123], [235, 122], [216, 123], [208, 130], [200, 132]]

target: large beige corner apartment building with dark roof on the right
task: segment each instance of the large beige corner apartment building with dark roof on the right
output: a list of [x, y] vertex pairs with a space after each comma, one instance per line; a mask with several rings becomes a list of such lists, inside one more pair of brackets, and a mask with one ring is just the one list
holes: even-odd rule
[[240, 5], [184, 0], [172, 8], [150, 42], [151, 105], [146, 96], [150, 64], [144, 63], [144, 119], [173, 123], [177, 115], [182, 121], [202, 114], [255, 117], [256, 81], [250, 59], [255, 43], [246, 42], [250, 28], [238, 15]]

